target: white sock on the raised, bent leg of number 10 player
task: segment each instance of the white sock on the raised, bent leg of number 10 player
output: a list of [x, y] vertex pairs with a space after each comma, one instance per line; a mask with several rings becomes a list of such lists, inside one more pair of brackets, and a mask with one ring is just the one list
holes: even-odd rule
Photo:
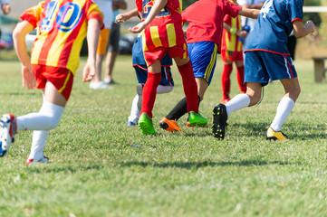
[[57, 127], [64, 108], [51, 102], [43, 101], [38, 113], [30, 113], [16, 118], [17, 130], [49, 130]]

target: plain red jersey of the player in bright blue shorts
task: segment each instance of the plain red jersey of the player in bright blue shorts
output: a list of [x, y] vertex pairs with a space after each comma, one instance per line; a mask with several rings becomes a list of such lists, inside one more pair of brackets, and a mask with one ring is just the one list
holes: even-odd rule
[[188, 22], [187, 42], [215, 42], [221, 51], [224, 17], [236, 17], [241, 6], [228, 0], [199, 0], [183, 11], [183, 22]]

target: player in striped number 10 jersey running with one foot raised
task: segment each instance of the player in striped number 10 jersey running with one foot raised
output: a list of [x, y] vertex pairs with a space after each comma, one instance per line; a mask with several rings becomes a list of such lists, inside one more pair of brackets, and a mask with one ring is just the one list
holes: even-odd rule
[[[85, 35], [89, 57], [82, 81], [94, 76], [103, 16], [91, 0], [46, 0], [26, 10], [21, 18], [23, 22], [14, 29], [14, 47], [22, 64], [23, 86], [42, 90], [43, 105], [37, 113], [2, 116], [0, 156], [8, 152], [17, 131], [34, 130], [31, 153], [26, 161], [29, 165], [48, 162], [43, 156], [45, 140], [49, 130], [58, 125], [70, 97]], [[24, 36], [36, 27], [38, 34], [30, 60]]]

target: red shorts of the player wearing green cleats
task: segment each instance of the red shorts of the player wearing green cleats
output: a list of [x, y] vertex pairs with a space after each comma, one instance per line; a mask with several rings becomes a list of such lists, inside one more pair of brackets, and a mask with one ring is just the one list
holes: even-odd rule
[[181, 59], [188, 58], [188, 45], [186, 43], [178, 44], [174, 47], [157, 47], [151, 51], [144, 52], [144, 59], [147, 65], [150, 66], [154, 61], [161, 61], [161, 59], [167, 54], [170, 58], [179, 57]]

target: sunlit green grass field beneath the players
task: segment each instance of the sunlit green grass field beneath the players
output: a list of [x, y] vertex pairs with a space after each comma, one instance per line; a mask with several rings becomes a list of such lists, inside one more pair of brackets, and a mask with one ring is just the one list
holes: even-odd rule
[[[37, 112], [39, 90], [25, 90], [20, 63], [0, 59], [0, 113]], [[220, 58], [220, 57], [218, 57]], [[126, 127], [136, 94], [130, 56], [120, 56], [113, 90], [82, 83], [82, 61], [59, 126], [49, 134], [47, 165], [24, 165], [32, 132], [21, 131], [0, 159], [0, 216], [326, 216], [326, 83], [313, 82], [313, 62], [296, 60], [302, 93], [284, 124], [286, 143], [265, 140], [265, 131], [284, 95], [279, 82], [264, 88], [263, 102], [228, 119], [226, 139], [210, 127], [159, 128], [183, 97], [174, 68], [175, 90], [159, 95], [154, 108], [157, 136]], [[211, 121], [221, 99], [222, 63], [201, 103]], [[236, 72], [232, 96], [238, 93]], [[139, 147], [138, 147], [139, 146]]]

